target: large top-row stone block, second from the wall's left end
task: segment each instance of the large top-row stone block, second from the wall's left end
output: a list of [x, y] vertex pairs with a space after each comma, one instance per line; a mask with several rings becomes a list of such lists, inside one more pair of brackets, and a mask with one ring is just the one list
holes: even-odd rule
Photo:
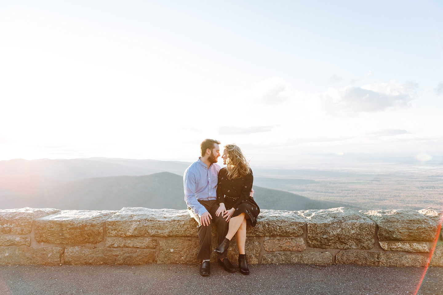
[[35, 220], [35, 241], [53, 244], [97, 244], [105, 221], [116, 211], [62, 210]]

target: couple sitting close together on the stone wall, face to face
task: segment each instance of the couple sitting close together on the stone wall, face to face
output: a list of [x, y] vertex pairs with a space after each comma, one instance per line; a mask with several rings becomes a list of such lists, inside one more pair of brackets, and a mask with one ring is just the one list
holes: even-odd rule
[[219, 141], [205, 139], [200, 144], [202, 156], [192, 163], [183, 176], [185, 201], [190, 215], [198, 222], [197, 232], [200, 249], [197, 258], [202, 260], [200, 274], [210, 275], [211, 220], [217, 229], [217, 263], [227, 272], [236, 272], [226, 254], [229, 241], [234, 237], [238, 245], [238, 268], [249, 275], [245, 254], [246, 219], [256, 225], [260, 213], [253, 199], [253, 173], [241, 149], [235, 144], [224, 146], [223, 164], [220, 157]]

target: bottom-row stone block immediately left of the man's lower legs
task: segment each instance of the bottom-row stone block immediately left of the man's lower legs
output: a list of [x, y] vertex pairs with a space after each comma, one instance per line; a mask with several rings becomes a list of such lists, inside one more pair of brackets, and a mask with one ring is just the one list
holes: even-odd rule
[[158, 264], [182, 263], [198, 264], [197, 252], [200, 243], [195, 240], [182, 239], [159, 239], [160, 253], [157, 258]]

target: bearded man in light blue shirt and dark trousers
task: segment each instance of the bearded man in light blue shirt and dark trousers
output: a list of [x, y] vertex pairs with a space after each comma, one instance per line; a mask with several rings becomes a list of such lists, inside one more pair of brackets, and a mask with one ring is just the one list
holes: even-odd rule
[[[219, 141], [214, 139], [205, 139], [200, 144], [201, 157], [192, 163], [185, 171], [183, 176], [185, 188], [185, 201], [191, 217], [198, 223], [197, 233], [200, 241], [200, 249], [197, 258], [202, 259], [200, 274], [202, 276], [210, 275], [211, 256], [211, 221], [217, 228], [218, 245], [221, 244], [228, 233], [229, 224], [223, 217], [216, 216], [218, 209], [217, 199], [217, 175], [220, 166], [217, 163], [220, 157]], [[226, 253], [219, 255], [217, 263], [225, 268], [227, 272], [235, 272], [235, 268], [226, 257]]]

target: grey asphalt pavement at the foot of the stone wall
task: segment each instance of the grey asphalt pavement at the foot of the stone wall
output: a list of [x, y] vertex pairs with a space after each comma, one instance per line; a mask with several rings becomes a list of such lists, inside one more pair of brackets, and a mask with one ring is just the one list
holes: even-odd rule
[[[181, 264], [138, 266], [1, 266], [0, 295], [309, 294], [411, 295], [424, 268], [356, 265], [252, 265], [251, 275], [227, 273], [216, 264], [211, 276]], [[443, 294], [443, 268], [429, 268], [418, 294]]]

